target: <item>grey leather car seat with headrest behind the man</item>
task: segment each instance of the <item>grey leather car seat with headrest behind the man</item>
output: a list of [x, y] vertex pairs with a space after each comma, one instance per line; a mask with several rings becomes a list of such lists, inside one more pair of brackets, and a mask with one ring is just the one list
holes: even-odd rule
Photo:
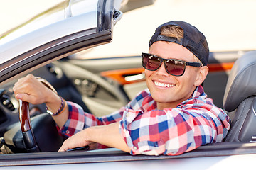
[[256, 136], [256, 51], [238, 58], [231, 69], [223, 98], [231, 118], [225, 142], [248, 142]]

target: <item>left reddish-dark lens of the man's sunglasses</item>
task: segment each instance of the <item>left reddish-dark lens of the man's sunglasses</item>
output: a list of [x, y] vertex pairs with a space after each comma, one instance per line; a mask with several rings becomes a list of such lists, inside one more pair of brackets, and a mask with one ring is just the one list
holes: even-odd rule
[[143, 67], [145, 69], [154, 71], [159, 68], [160, 64], [161, 64], [161, 61], [159, 60], [158, 57], [155, 57], [153, 55], [144, 55], [143, 56]]

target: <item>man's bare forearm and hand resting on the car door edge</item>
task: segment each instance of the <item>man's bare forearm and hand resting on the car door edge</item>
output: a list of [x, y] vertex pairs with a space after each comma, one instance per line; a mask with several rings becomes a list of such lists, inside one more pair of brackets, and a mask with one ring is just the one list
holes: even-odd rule
[[82, 130], [63, 142], [59, 151], [67, 151], [75, 147], [84, 147], [94, 143], [115, 147], [130, 152], [129, 147], [119, 133], [119, 122], [110, 125], [93, 126]]

